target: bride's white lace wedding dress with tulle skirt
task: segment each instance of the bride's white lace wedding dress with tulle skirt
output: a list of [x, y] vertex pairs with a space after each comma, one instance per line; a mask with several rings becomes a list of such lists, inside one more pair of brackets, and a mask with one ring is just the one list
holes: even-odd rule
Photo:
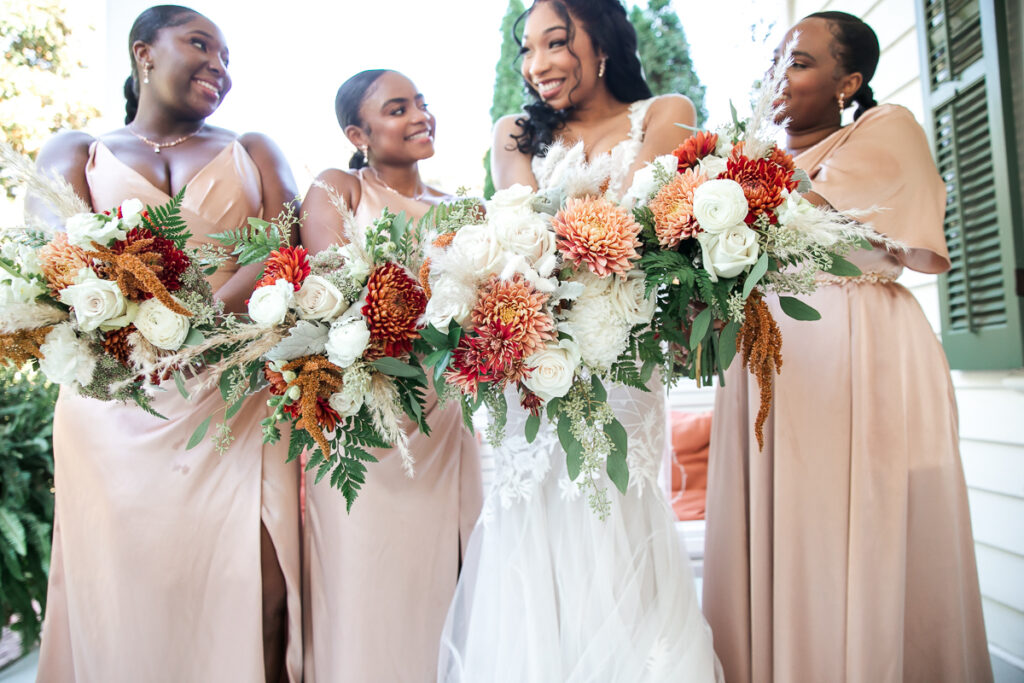
[[[648, 103], [631, 108], [633, 130], [612, 152], [614, 168], [632, 165]], [[652, 382], [651, 389], [609, 387], [629, 432], [630, 485], [621, 495], [602, 473], [597, 483], [611, 501], [603, 521], [568, 479], [565, 453], [546, 420], [526, 442], [527, 414], [510, 392], [495, 482], [442, 635], [439, 681], [721, 680], [689, 560], [656, 485], [666, 409], [662, 388]]]

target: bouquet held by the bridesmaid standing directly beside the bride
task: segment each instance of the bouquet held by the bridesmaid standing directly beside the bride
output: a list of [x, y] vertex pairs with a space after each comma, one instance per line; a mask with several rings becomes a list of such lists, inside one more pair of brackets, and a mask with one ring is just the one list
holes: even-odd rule
[[338, 205], [347, 244], [315, 256], [288, 246], [287, 229], [256, 218], [214, 236], [241, 264], [262, 262], [263, 273], [248, 301], [250, 322], [208, 339], [204, 352], [219, 356], [207, 381], [219, 382], [225, 421], [268, 384], [273, 413], [263, 421], [264, 442], [278, 441], [279, 424], [291, 423], [289, 460], [311, 450], [306, 469], [317, 468], [316, 481], [330, 473], [351, 508], [366, 463], [376, 462], [368, 449], [396, 446], [412, 476], [402, 416], [429, 433], [427, 381], [412, 353], [427, 298], [414, 274], [413, 223], [385, 211], [356, 226]]

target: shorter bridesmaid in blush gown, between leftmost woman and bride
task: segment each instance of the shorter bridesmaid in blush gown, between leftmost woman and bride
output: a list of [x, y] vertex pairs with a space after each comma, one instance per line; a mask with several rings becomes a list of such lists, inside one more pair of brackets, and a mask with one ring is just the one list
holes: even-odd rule
[[[318, 179], [340, 194], [356, 222], [385, 207], [420, 218], [452, 199], [420, 177], [418, 163], [434, 154], [435, 122], [412, 81], [393, 71], [361, 72], [338, 90], [335, 108], [358, 151], [349, 171], [328, 169]], [[325, 189], [310, 187], [302, 210], [301, 242], [311, 253], [344, 240]], [[482, 486], [476, 441], [458, 404], [432, 405], [427, 419], [431, 435], [411, 436], [416, 477], [406, 476], [396, 452], [375, 452], [380, 462], [351, 513], [341, 494], [314, 485], [307, 473], [306, 683], [424, 683], [436, 675]]]

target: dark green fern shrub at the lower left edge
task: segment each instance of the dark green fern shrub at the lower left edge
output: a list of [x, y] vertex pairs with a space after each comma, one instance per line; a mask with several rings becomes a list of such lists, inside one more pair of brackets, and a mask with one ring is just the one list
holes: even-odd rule
[[0, 368], [0, 625], [39, 640], [53, 528], [53, 402], [42, 376]]

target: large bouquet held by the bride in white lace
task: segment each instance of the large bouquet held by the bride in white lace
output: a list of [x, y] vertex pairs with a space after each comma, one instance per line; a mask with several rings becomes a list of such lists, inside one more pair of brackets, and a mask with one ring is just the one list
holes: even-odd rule
[[[596, 191], [600, 179], [591, 179], [574, 189]], [[487, 407], [493, 443], [503, 438], [507, 395], [530, 412], [527, 440], [546, 414], [569, 476], [590, 487], [599, 513], [609, 503], [594, 475], [605, 469], [622, 492], [629, 482], [627, 433], [604, 382], [643, 384], [636, 342], [654, 313], [634, 265], [640, 231], [607, 199], [515, 185], [495, 195], [484, 220], [433, 239], [421, 272], [429, 295], [421, 334], [431, 347], [423, 362], [435, 382], [454, 387], [467, 424]]]

